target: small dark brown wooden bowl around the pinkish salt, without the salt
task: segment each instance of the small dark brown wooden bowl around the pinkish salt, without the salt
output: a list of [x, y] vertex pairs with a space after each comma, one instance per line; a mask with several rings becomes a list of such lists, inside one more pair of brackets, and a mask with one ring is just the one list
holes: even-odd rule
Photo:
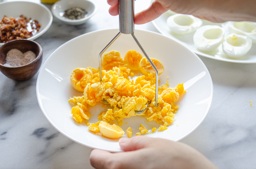
[[[18, 66], [18, 67], [7, 67], [4, 66], [6, 63], [6, 55], [9, 50], [18, 49], [22, 53], [25, 53], [29, 50], [35, 53], [36, 59], [28, 63], [27, 65]], [[18, 39], [14, 41], [7, 42], [6, 44], [0, 47], [0, 71], [6, 75], [7, 77], [24, 81], [32, 78], [37, 71], [39, 70], [42, 64], [43, 49], [42, 47], [35, 41], [26, 40], [26, 39]]]

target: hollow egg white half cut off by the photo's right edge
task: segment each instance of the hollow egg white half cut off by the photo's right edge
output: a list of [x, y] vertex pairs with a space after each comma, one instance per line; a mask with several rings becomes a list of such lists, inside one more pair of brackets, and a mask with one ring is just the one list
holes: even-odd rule
[[242, 21], [242, 22], [234, 22], [229, 21], [229, 32], [236, 33], [241, 35], [246, 35], [251, 38], [251, 41], [256, 43], [256, 24], [253, 22]]

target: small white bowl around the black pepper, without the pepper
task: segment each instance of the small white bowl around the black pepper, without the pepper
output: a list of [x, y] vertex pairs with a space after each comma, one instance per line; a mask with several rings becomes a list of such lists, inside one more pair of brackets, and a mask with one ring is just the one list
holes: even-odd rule
[[[70, 9], [73, 7], [79, 7], [84, 9], [87, 12], [87, 15], [84, 18], [79, 20], [70, 20], [62, 16], [67, 9]], [[69, 25], [83, 24], [90, 17], [92, 17], [96, 12], [97, 12], [97, 7], [90, 0], [60, 0], [52, 6], [52, 14], [59, 20]]]

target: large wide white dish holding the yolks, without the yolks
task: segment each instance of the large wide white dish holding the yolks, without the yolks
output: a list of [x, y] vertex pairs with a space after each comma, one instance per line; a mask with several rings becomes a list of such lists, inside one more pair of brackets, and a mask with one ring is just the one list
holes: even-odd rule
[[[117, 35], [119, 29], [101, 30], [78, 36], [55, 50], [42, 66], [37, 79], [38, 104], [50, 124], [64, 136], [82, 145], [121, 151], [118, 139], [108, 139], [88, 130], [85, 122], [78, 124], [72, 118], [72, 104], [68, 100], [74, 95], [82, 96], [70, 84], [70, 74], [76, 68], [99, 67], [99, 53]], [[174, 122], [165, 131], [147, 134], [148, 137], [159, 137], [178, 141], [194, 131], [206, 117], [213, 98], [213, 85], [210, 74], [192, 51], [158, 33], [135, 30], [139, 40], [149, 57], [158, 59], [165, 66], [160, 75], [160, 85], [169, 80], [171, 87], [184, 83], [187, 91], [175, 102], [180, 108], [175, 114]], [[117, 50], [124, 57], [128, 50], [136, 50], [143, 54], [131, 35], [122, 34], [106, 52]], [[72, 56], [72, 57], [70, 57]], [[168, 79], [166, 77], [169, 76]], [[105, 108], [101, 104], [90, 107], [91, 118], [88, 122], [98, 122], [98, 115]], [[123, 119], [121, 128], [133, 129], [133, 137], [139, 132], [140, 124], [146, 128], [150, 125], [159, 127], [155, 121], [145, 122], [140, 116]], [[127, 123], [127, 124], [126, 124]], [[178, 125], [178, 126], [177, 126]], [[126, 132], [122, 137], [126, 137]]]

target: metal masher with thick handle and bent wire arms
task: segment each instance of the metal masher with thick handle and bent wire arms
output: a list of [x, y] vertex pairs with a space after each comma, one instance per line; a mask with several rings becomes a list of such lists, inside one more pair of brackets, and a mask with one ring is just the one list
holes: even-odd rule
[[[151, 66], [155, 70], [155, 107], [158, 106], [157, 104], [157, 94], [158, 94], [158, 71], [155, 67], [154, 63], [151, 61], [151, 59], [146, 54], [145, 50], [140, 45], [139, 41], [134, 35], [134, 0], [119, 0], [119, 33], [109, 42], [109, 44], [101, 51], [99, 54], [99, 78], [100, 81], [102, 81], [102, 60], [101, 56], [102, 54], [107, 50], [108, 47], [110, 47], [111, 44], [123, 33], [123, 34], [131, 34], [133, 36], [134, 41], [139, 46], [140, 50], [146, 57], [146, 59], [149, 61]], [[108, 103], [106, 100], [103, 100], [104, 103]], [[149, 106], [149, 103], [146, 104], [146, 106]], [[147, 109], [147, 108], [146, 108]], [[140, 114], [143, 113], [146, 109], [135, 111], [136, 113]]]

